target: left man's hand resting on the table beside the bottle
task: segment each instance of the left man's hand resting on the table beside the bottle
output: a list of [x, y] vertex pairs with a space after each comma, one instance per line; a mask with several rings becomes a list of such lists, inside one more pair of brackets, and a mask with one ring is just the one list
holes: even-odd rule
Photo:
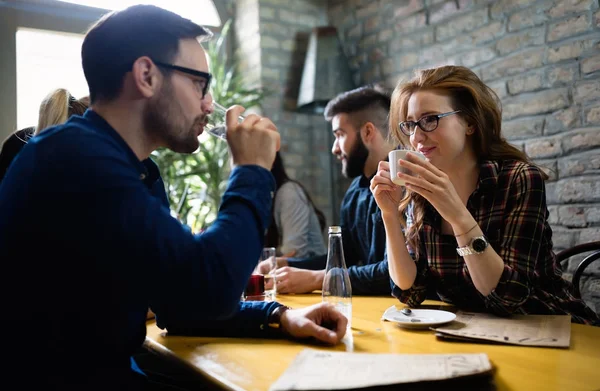
[[313, 337], [329, 344], [340, 342], [346, 334], [348, 319], [330, 304], [320, 303], [281, 315], [283, 331], [292, 337]]

